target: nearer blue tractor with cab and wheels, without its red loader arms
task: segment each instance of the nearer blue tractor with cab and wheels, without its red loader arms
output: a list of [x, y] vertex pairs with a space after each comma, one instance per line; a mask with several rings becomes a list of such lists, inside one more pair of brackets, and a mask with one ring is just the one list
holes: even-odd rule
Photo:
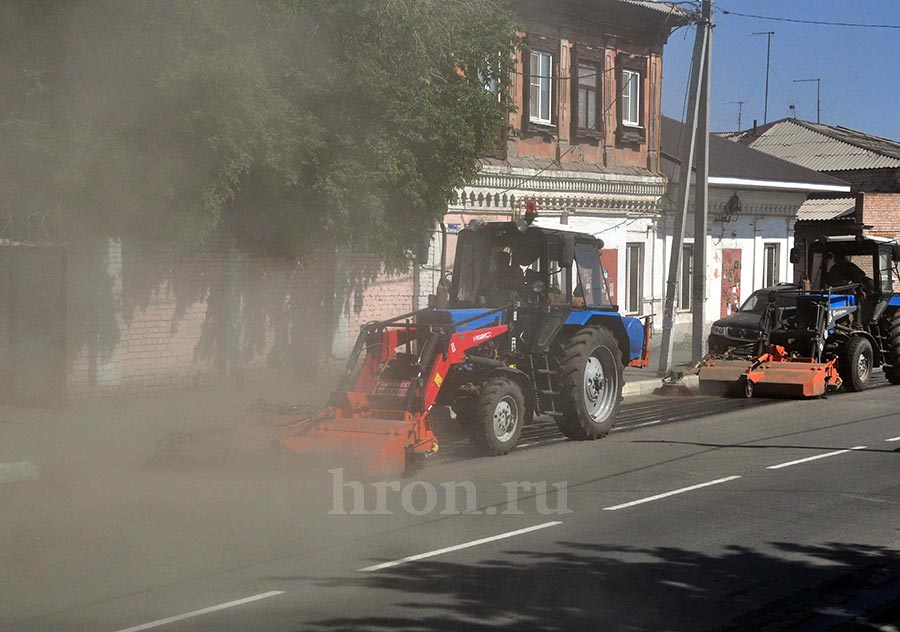
[[508, 452], [538, 415], [570, 439], [604, 437], [623, 368], [648, 364], [650, 318], [611, 304], [602, 240], [564, 228], [471, 223], [458, 235], [446, 304], [416, 314], [433, 331], [508, 325], [452, 367], [436, 401], [453, 408], [483, 453]]

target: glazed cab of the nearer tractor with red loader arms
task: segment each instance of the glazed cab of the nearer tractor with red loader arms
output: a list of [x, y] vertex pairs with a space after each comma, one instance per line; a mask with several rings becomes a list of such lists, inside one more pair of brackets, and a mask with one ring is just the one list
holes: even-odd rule
[[564, 305], [615, 311], [599, 253], [586, 233], [525, 222], [473, 223], [459, 234], [451, 308]]

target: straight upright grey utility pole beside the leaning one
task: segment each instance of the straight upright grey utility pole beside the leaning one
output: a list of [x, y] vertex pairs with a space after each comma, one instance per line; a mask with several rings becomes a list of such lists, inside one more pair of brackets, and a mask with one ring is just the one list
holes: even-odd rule
[[[699, 362], [706, 355], [706, 224], [709, 200], [709, 91], [712, 79], [712, 0], [705, 15], [706, 63], [700, 76], [700, 110], [697, 121], [697, 181], [694, 192], [694, 249], [691, 263], [691, 361]], [[704, 5], [705, 6], [705, 5]], [[682, 264], [683, 265], [683, 264]]]

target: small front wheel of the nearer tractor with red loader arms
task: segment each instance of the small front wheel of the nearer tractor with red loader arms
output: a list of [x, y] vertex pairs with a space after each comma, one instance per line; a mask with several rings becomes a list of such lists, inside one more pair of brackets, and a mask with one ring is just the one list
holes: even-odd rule
[[525, 396], [519, 385], [505, 377], [491, 378], [475, 402], [472, 416], [461, 418], [472, 445], [491, 456], [516, 447], [525, 425]]

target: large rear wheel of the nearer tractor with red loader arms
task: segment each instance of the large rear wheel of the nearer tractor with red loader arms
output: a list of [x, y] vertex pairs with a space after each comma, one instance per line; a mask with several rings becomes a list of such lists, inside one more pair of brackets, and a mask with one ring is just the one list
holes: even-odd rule
[[622, 401], [622, 371], [611, 331], [585, 327], [572, 336], [559, 359], [560, 432], [577, 441], [609, 434]]

